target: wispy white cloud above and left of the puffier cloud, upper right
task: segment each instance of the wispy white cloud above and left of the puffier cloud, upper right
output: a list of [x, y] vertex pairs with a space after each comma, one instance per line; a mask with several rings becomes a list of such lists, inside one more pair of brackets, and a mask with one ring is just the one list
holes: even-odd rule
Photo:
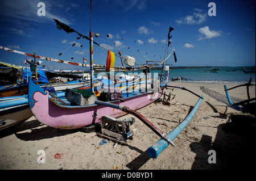
[[183, 18], [176, 19], [177, 24], [200, 24], [205, 22], [207, 18], [207, 13], [204, 13], [203, 10], [193, 9], [192, 15], [184, 16]]

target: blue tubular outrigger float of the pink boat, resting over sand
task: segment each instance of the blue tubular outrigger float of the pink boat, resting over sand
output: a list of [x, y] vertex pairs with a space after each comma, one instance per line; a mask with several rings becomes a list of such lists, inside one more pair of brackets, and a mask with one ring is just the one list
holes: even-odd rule
[[[189, 113], [189, 115], [179, 124], [176, 128], [174, 128], [170, 133], [167, 134], [167, 137], [173, 141], [181, 131], [188, 125], [188, 123], [191, 121], [193, 116], [195, 115], [197, 108], [201, 104], [202, 100], [204, 99], [203, 96], [200, 96], [199, 100], [197, 101], [195, 107], [193, 110]], [[166, 149], [168, 146], [168, 142], [166, 140], [160, 139], [158, 142], [156, 142], [154, 145], [150, 146], [150, 148], [147, 149], [147, 154], [151, 158], [156, 158], [164, 149]]]

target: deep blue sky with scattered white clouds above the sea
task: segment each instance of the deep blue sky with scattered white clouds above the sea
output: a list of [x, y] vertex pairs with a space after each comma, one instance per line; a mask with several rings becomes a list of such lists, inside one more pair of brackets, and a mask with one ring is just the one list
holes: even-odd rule
[[[46, 5], [46, 16], [38, 16], [38, 3]], [[209, 16], [208, 3], [216, 4], [216, 16]], [[90, 1], [0, 1], [0, 45], [60, 60], [89, 62], [89, 41], [56, 28], [53, 18], [83, 35], [89, 34]], [[255, 1], [152, 1], [93, 0], [94, 41], [139, 64], [161, 61], [166, 50], [169, 26], [168, 64], [174, 66], [255, 65]], [[107, 37], [106, 35], [110, 35]], [[89, 36], [89, 35], [88, 35]], [[76, 43], [72, 47], [72, 43]], [[146, 43], [146, 44], [145, 44]], [[82, 48], [80, 45], [83, 45]], [[138, 51], [139, 50], [139, 51]], [[61, 56], [59, 56], [59, 53]], [[0, 61], [20, 65], [26, 57], [0, 50]], [[71, 59], [73, 57], [73, 60]], [[94, 45], [94, 64], [106, 64], [107, 51]], [[43, 61], [51, 69], [81, 69]], [[120, 66], [119, 57], [115, 65]]]

